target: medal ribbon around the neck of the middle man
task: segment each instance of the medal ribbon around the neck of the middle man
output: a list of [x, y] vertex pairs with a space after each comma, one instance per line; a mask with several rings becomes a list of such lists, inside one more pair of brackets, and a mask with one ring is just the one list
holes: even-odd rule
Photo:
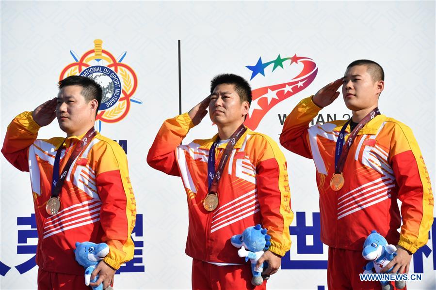
[[218, 171], [215, 174], [215, 149], [220, 141], [220, 137], [212, 144], [209, 151], [209, 160], [208, 160], [208, 183], [209, 183], [209, 193], [216, 194], [218, 189], [218, 183], [220, 181], [221, 176], [223, 175], [224, 167], [226, 166], [228, 157], [235, 147], [236, 142], [241, 138], [241, 136], [247, 131], [247, 128], [241, 124], [238, 129], [236, 129], [235, 133], [230, 137], [230, 140], [227, 143], [226, 149], [224, 150], [223, 156], [221, 157], [220, 164], [218, 165]]

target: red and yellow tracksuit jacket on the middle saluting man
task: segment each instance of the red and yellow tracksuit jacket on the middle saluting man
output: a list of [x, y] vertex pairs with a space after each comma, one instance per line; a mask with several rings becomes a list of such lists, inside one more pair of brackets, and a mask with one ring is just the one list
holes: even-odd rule
[[[166, 120], [151, 146], [152, 168], [180, 176], [187, 195], [189, 231], [186, 254], [194, 259], [242, 263], [230, 243], [232, 235], [261, 224], [271, 235], [270, 251], [283, 256], [290, 249], [291, 194], [286, 160], [269, 137], [247, 130], [235, 144], [218, 185], [219, 206], [203, 207], [208, 194], [209, 150], [218, 135], [180, 145], [194, 127], [187, 113]], [[227, 143], [217, 146], [217, 165]]]

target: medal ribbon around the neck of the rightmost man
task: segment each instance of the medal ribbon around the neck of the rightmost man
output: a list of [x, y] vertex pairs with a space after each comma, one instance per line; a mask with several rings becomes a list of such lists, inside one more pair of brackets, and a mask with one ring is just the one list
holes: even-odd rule
[[347, 128], [348, 124], [351, 122], [352, 118], [350, 118], [350, 120], [348, 120], [343, 125], [342, 129], [340, 130], [338, 140], [336, 141], [335, 174], [342, 173], [342, 169], [344, 168], [345, 165], [345, 159], [347, 159], [348, 152], [355, 140], [355, 137], [357, 136], [357, 133], [359, 133], [360, 129], [362, 129], [366, 123], [370, 122], [377, 115], [380, 115], [380, 111], [378, 107], [374, 108], [368, 115], [365, 116], [365, 118], [360, 120], [360, 122], [357, 124], [354, 130], [350, 133], [350, 137], [348, 137], [345, 148], [343, 148], [344, 140], [345, 140], [345, 129]]

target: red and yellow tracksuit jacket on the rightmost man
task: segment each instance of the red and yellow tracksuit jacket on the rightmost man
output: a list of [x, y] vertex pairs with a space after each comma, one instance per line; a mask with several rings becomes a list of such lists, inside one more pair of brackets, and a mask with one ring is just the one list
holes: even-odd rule
[[[303, 99], [286, 118], [280, 143], [313, 159], [320, 193], [321, 240], [334, 248], [362, 250], [371, 230], [415, 253], [427, 243], [433, 221], [430, 177], [409, 127], [378, 115], [358, 133], [350, 148], [339, 191], [330, 188], [335, 173], [335, 146], [346, 121], [309, 127], [321, 110]], [[350, 133], [346, 130], [345, 142]], [[401, 225], [397, 198], [402, 201]]]

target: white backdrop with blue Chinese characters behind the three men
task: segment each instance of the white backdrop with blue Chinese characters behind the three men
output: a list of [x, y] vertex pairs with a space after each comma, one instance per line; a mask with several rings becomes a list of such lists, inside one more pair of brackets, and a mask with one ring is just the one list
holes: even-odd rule
[[[277, 142], [283, 114], [302, 98], [343, 76], [351, 61], [379, 62], [386, 74], [380, 110], [412, 128], [432, 184], [436, 184], [434, 1], [1, 1], [0, 8], [1, 140], [18, 113], [56, 96], [63, 69], [75, 62], [73, 56], [80, 58], [93, 49], [95, 39], [102, 39], [103, 49], [115, 58], [127, 51], [122, 63], [133, 69], [137, 88], [127, 115], [119, 122], [102, 122], [101, 133], [127, 140], [121, 143], [127, 142], [130, 178], [138, 214], [142, 214], [138, 220], [143, 223], [142, 227], [137, 223], [133, 235], [135, 260], [116, 275], [116, 289], [189, 289], [191, 285], [191, 258], [184, 254], [188, 216], [182, 183], [145, 162], [161, 123], [178, 115], [178, 39], [182, 112], [207, 96], [210, 79], [216, 74], [232, 72], [250, 79], [252, 72], [246, 66], [254, 66], [259, 57], [265, 63], [278, 55], [297, 55], [316, 63], [317, 75], [307, 89], [273, 107], [256, 129]], [[258, 74], [250, 81], [253, 89], [290, 81], [302, 69], [301, 62], [290, 63], [284, 61], [283, 68], [274, 72], [272, 65], [265, 68], [265, 76]], [[105, 61], [98, 64], [107, 65]], [[130, 79], [132, 91], [133, 75], [127, 75], [122, 77], [123, 88], [128, 88]], [[127, 110], [123, 106], [121, 113]], [[121, 113], [113, 111], [111, 118], [121, 119]], [[319, 118], [326, 121], [327, 114], [343, 119], [348, 110], [339, 97], [321, 113]], [[184, 143], [211, 137], [215, 130], [205, 118]], [[40, 138], [53, 136], [64, 136], [55, 122], [39, 132]], [[311, 160], [283, 152], [295, 213], [292, 262], [289, 256], [283, 259], [282, 270], [269, 280], [268, 288], [326, 289], [327, 248], [319, 244], [319, 224], [312, 220], [319, 216], [315, 168]], [[34, 289], [36, 238], [32, 238], [29, 176], [3, 156], [0, 159], [0, 288]], [[309, 235], [297, 242], [298, 220], [299, 232], [307, 230]], [[408, 283], [408, 289], [436, 288], [435, 230], [430, 236], [427, 246], [414, 255], [409, 272], [423, 272], [423, 280]]]

